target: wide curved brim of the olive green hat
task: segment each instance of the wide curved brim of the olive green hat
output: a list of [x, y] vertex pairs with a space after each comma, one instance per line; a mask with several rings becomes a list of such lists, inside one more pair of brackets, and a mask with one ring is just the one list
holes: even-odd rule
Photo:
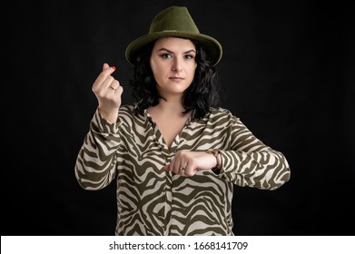
[[145, 34], [141, 37], [135, 39], [131, 44], [129, 44], [125, 51], [125, 57], [130, 64], [135, 65], [135, 59], [139, 54], [140, 50], [146, 44], [152, 43], [153, 41], [163, 38], [163, 37], [180, 37], [191, 39], [193, 41], [201, 44], [203, 50], [211, 57], [211, 62], [216, 65], [220, 62], [222, 58], [222, 45], [211, 36], [206, 34], [192, 34], [183, 33], [177, 31], [163, 31], [153, 34]]

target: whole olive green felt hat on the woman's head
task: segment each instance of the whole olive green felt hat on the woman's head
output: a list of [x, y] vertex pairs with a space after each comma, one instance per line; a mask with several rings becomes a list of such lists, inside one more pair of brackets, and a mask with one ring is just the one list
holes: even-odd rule
[[164, 9], [153, 18], [149, 34], [135, 39], [125, 51], [125, 57], [130, 64], [135, 63], [139, 51], [144, 45], [162, 37], [181, 37], [191, 39], [202, 45], [204, 51], [211, 57], [216, 65], [222, 58], [222, 45], [211, 36], [201, 34], [194, 24], [189, 11], [184, 6], [171, 6]]

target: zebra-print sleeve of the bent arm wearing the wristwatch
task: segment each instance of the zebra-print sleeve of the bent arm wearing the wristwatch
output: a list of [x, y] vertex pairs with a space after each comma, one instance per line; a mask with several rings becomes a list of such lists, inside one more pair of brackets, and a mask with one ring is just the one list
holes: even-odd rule
[[238, 118], [230, 115], [228, 122], [231, 148], [221, 151], [221, 178], [263, 190], [276, 190], [290, 180], [289, 163], [280, 151], [261, 142]]

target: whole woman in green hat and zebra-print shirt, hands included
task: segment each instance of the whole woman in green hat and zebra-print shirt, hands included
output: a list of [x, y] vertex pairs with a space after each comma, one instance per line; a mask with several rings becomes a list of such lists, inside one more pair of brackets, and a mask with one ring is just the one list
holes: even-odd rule
[[289, 181], [283, 154], [217, 106], [221, 57], [187, 8], [172, 6], [126, 49], [135, 103], [121, 105], [123, 88], [104, 64], [75, 176], [85, 190], [116, 180], [116, 235], [233, 235], [233, 184]]

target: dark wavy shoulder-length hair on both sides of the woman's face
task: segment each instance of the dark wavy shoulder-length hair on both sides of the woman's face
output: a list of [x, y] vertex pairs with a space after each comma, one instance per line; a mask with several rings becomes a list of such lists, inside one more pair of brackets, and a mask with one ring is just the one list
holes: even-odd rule
[[[216, 69], [208, 59], [208, 55], [202, 47], [196, 43], [196, 71], [192, 84], [185, 91], [182, 97], [184, 112], [193, 112], [193, 118], [202, 118], [206, 113], [211, 112], [212, 107], [220, 103], [217, 91]], [[153, 71], [150, 65], [150, 57], [153, 51], [154, 42], [147, 44], [136, 58], [133, 69], [133, 79], [130, 84], [133, 87], [132, 97], [135, 101], [135, 114], [142, 114], [145, 109], [155, 106], [160, 99], [164, 98], [159, 94]]]

